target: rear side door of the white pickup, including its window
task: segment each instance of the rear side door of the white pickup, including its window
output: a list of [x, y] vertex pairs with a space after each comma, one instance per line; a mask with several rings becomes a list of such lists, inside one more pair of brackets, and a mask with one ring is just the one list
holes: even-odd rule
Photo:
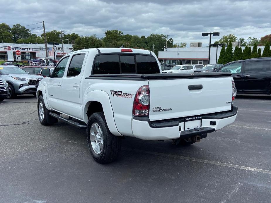
[[62, 81], [62, 108], [63, 112], [76, 118], [82, 118], [80, 115], [80, 84], [83, 75], [84, 59], [86, 54], [75, 54], [71, 56], [67, 74]]

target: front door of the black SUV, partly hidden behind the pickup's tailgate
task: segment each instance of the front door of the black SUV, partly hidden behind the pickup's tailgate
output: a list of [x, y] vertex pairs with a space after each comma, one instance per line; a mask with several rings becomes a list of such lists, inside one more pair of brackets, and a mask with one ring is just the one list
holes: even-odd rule
[[242, 73], [242, 63], [236, 62], [230, 63], [229, 65], [223, 66], [219, 72], [231, 72], [235, 83], [235, 87], [238, 93], [243, 92], [243, 73]]

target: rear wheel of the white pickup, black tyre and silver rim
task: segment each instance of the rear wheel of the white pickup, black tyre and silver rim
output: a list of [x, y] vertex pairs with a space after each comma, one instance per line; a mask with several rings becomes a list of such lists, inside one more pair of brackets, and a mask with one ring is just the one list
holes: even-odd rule
[[92, 157], [100, 164], [112, 162], [120, 154], [121, 138], [110, 132], [103, 112], [89, 117], [87, 142]]

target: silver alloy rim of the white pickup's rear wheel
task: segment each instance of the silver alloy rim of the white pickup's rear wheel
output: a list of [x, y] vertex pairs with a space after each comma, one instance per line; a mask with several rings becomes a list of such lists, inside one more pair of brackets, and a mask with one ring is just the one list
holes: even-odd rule
[[103, 151], [103, 132], [98, 123], [93, 123], [90, 128], [90, 141], [93, 151], [100, 154]]

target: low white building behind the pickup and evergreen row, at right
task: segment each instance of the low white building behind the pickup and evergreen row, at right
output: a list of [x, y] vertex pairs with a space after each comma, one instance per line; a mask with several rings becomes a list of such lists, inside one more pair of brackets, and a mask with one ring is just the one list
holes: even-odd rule
[[[210, 52], [210, 64], [216, 63], [216, 53], [217, 60], [219, 59], [219, 54], [222, 47], [211, 47]], [[234, 51], [233, 47], [233, 51]], [[245, 47], [242, 47], [242, 50]], [[251, 47], [252, 49], [253, 47]], [[261, 48], [263, 53], [264, 46], [258, 46]], [[208, 64], [209, 47], [183, 47], [183, 48], [167, 48], [164, 51], [158, 52], [159, 61], [171, 65], [181, 65], [181, 64]]]

